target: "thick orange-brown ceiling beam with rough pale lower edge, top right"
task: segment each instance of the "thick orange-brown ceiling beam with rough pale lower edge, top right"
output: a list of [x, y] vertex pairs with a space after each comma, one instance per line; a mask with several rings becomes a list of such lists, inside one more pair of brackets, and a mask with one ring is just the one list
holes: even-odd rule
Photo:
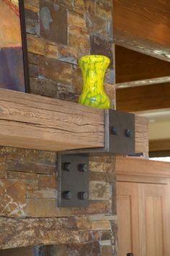
[[115, 43], [170, 61], [168, 1], [113, 0]]

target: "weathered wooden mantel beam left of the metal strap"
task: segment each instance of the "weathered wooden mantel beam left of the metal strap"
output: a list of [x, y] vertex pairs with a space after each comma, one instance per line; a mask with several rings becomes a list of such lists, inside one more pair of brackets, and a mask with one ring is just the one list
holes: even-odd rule
[[104, 110], [39, 95], [0, 91], [1, 145], [39, 150], [104, 145]]

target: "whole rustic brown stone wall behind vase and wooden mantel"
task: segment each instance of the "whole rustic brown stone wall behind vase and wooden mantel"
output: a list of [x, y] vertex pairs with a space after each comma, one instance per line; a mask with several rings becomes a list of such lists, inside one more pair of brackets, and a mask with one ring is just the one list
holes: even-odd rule
[[[112, 0], [24, 5], [31, 93], [77, 101], [77, 59], [104, 54], [111, 59], [105, 90], [114, 108]], [[57, 207], [56, 153], [1, 147], [0, 159], [1, 249], [53, 243], [62, 256], [116, 255], [114, 158], [89, 159], [86, 209]]]

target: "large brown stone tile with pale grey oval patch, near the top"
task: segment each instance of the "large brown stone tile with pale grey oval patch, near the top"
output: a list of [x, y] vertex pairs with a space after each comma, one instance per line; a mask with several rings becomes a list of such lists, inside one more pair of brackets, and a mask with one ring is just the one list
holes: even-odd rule
[[40, 35], [45, 40], [67, 45], [68, 18], [65, 8], [40, 0]]

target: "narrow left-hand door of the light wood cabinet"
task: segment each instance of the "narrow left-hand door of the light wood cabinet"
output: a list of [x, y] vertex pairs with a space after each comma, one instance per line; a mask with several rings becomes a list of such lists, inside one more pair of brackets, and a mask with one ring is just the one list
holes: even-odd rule
[[138, 184], [117, 182], [118, 255], [140, 256], [138, 236]]

